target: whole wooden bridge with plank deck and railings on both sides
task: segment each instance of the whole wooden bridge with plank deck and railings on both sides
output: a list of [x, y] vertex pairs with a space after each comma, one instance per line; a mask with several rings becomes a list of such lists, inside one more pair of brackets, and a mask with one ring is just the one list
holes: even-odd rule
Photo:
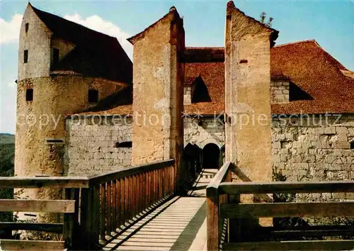
[[[173, 160], [95, 177], [1, 177], [0, 188], [63, 189], [62, 200], [1, 199], [0, 211], [62, 213], [62, 223], [0, 223], [62, 240], [0, 240], [1, 250], [352, 250], [353, 225], [284, 226], [259, 218], [354, 216], [354, 202], [273, 202], [270, 194], [351, 193], [354, 182], [235, 183], [234, 165], [176, 195]], [[213, 177], [214, 176], [214, 177]], [[213, 177], [213, 178], [212, 178]], [[241, 202], [256, 194], [258, 202]], [[268, 198], [268, 199], [267, 199]], [[257, 200], [256, 200], [257, 201]], [[268, 225], [267, 225], [268, 222]], [[336, 238], [329, 238], [335, 236]]]

